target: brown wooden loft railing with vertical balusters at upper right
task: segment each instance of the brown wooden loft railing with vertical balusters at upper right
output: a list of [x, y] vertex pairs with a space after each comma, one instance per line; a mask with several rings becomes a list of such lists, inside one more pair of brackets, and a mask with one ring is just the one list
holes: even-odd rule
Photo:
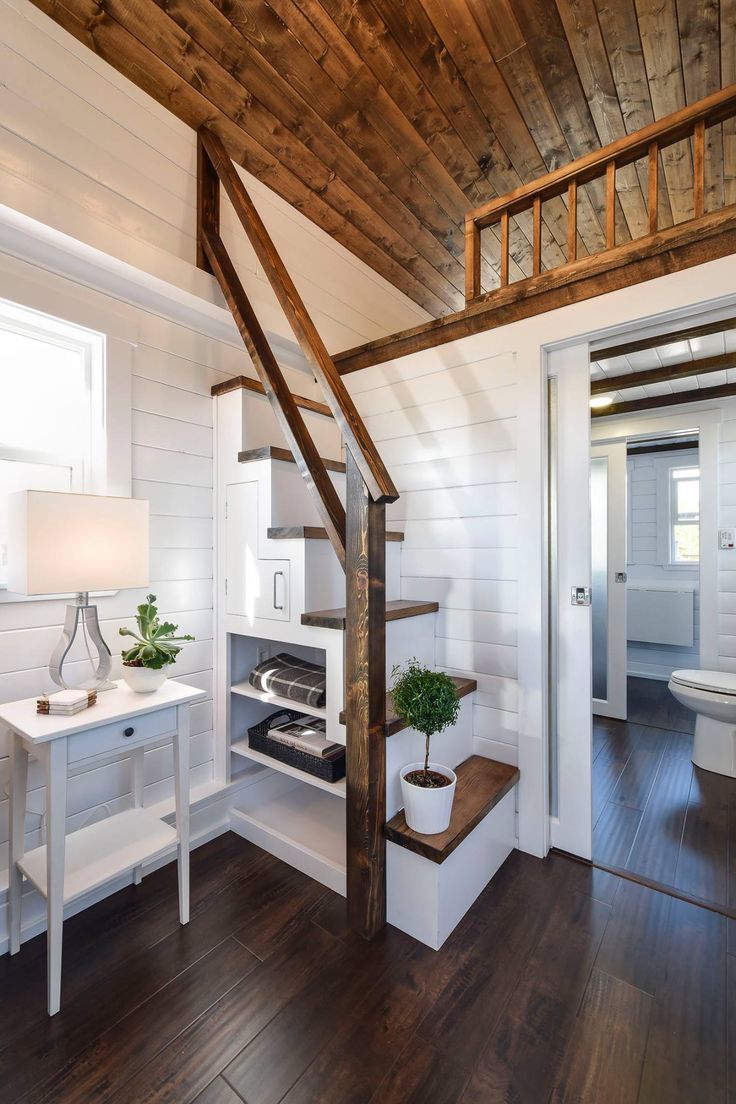
[[[591, 181], [605, 180], [604, 235], [605, 247], [595, 254], [596, 259], [602, 254], [620, 247], [616, 241], [616, 173], [641, 159], [647, 160], [647, 233], [637, 238], [639, 256], [646, 254], [647, 245], [654, 244], [660, 233], [659, 194], [660, 194], [660, 158], [662, 150], [675, 142], [690, 139], [692, 141], [692, 208], [693, 216], [687, 220], [692, 226], [694, 220], [705, 215], [705, 151], [706, 132], [736, 116], [736, 84], [698, 100], [690, 107], [684, 107], [666, 118], [652, 123], [648, 127], [618, 141], [604, 146], [600, 150], [572, 161], [555, 172], [516, 188], [506, 195], [491, 200], [476, 208], [466, 215], [466, 302], [492, 300], [498, 288], [483, 293], [481, 288], [481, 233], [490, 226], [500, 231], [500, 269], [499, 287], [509, 286], [509, 256], [511, 220], [514, 216], [532, 212], [532, 276], [515, 280], [513, 287], [520, 290], [527, 279], [545, 276], [551, 269], [542, 270], [542, 221], [543, 203], [548, 200], [566, 197], [567, 200], [567, 245], [566, 261], [555, 266], [552, 272], [563, 276], [572, 265], [584, 267], [591, 264], [591, 257], [577, 257], [578, 236], [578, 191]], [[729, 140], [734, 140], [733, 135]], [[724, 136], [724, 142], [726, 136]], [[725, 205], [725, 204], [724, 204]], [[678, 226], [684, 225], [679, 222]], [[627, 243], [630, 244], [630, 243]]]

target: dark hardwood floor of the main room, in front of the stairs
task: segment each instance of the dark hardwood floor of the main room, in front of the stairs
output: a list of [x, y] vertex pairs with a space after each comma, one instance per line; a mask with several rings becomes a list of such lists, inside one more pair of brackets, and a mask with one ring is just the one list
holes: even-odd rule
[[341, 898], [228, 834], [192, 857], [186, 927], [172, 866], [67, 922], [53, 1019], [45, 938], [0, 959], [0, 1101], [725, 1104], [727, 924], [516, 851], [440, 952], [367, 944]]

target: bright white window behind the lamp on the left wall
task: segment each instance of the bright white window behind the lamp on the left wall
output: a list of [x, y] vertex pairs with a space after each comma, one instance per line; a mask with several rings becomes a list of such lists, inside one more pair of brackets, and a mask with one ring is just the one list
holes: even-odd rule
[[0, 300], [0, 588], [11, 491], [105, 489], [104, 352], [102, 335]]

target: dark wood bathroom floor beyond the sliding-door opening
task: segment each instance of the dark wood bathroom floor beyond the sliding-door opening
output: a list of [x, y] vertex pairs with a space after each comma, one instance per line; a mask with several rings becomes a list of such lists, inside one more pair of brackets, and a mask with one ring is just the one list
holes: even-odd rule
[[628, 680], [629, 720], [593, 719], [593, 859], [736, 915], [736, 778], [694, 767], [695, 714]]

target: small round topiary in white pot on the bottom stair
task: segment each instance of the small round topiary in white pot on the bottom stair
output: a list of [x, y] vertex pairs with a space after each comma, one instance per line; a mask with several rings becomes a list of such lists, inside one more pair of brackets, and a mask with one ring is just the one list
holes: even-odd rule
[[455, 724], [460, 699], [449, 675], [422, 667], [416, 659], [394, 667], [392, 675], [395, 712], [425, 736], [424, 762], [409, 763], [401, 772], [404, 816], [414, 831], [434, 836], [450, 822], [457, 777], [448, 766], [429, 761], [429, 741]]

